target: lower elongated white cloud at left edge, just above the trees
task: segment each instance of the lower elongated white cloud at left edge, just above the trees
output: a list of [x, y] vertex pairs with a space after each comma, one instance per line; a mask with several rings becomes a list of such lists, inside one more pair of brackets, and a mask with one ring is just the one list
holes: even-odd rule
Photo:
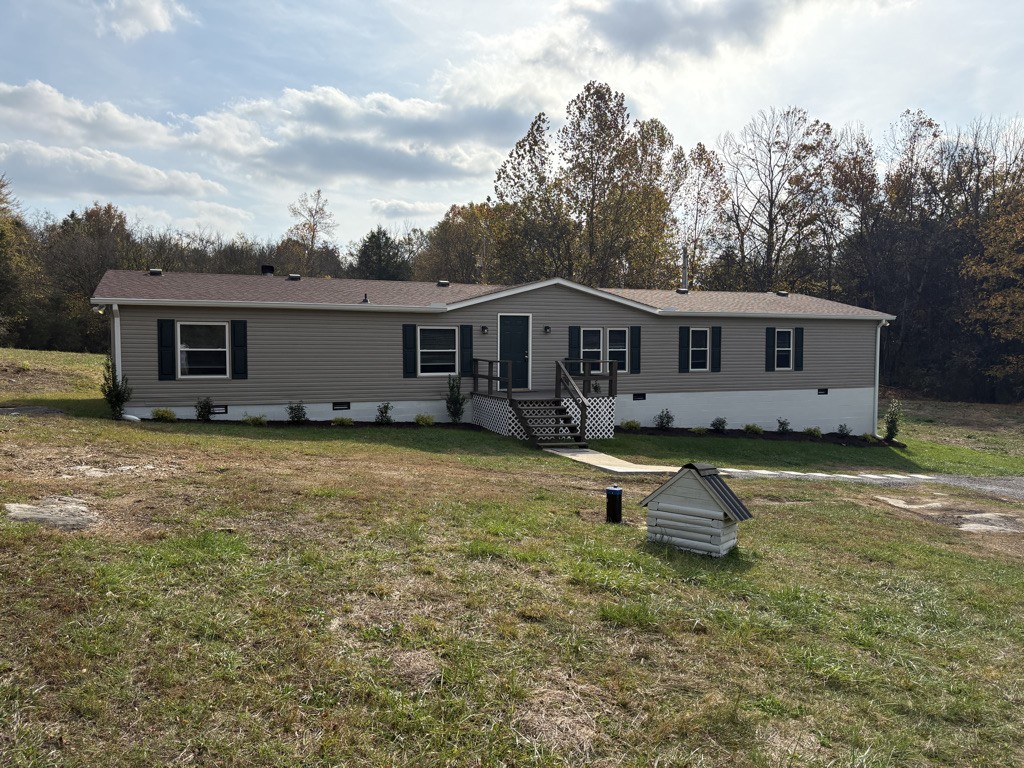
[[61, 189], [65, 195], [78, 191], [100, 197], [181, 198], [226, 193], [223, 185], [198, 173], [164, 171], [118, 153], [88, 146], [46, 146], [35, 141], [0, 143], [0, 161], [10, 170], [11, 176], [31, 179], [28, 186], [33, 191]]

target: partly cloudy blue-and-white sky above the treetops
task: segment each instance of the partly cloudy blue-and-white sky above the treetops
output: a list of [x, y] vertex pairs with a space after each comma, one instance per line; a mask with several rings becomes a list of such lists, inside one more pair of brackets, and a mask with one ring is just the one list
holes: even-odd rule
[[1021, 112], [1014, 0], [2, 0], [0, 173], [32, 217], [94, 202], [280, 239], [323, 189], [340, 246], [494, 195], [591, 80], [686, 148], [801, 106], [879, 142]]

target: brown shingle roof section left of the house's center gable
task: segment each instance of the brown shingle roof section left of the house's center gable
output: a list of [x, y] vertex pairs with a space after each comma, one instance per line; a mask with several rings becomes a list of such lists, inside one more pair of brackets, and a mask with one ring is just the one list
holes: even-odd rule
[[361, 304], [364, 296], [378, 306], [420, 307], [451, 304], [502, 290], [501, 286], [453, 283], [439, 288], [435, 283], [386, 280], [331, 280], [261, 274], [209, 274], [112, 269], [96, 286], [94, 300], [202, 301], [267, 304]]

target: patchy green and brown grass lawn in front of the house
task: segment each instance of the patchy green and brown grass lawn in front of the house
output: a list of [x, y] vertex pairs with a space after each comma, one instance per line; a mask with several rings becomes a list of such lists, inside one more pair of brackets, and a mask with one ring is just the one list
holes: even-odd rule
[[[871, 486], [736, 480], [755, 517], [715, 560], [645, 543], [656, 478], [620, 478], [609, 526], [611, 477], [488, 433], [99, 418], [100, 362], [0, 350], [0, 403], [70, 414], [0, 416], [0, 502], [101, 517], [0, 514], [0, 765], [1024, 763], [1020, 535]], [[1014, 436], [935, 412], [906, 452], [602, 447], [1020, 467]]]

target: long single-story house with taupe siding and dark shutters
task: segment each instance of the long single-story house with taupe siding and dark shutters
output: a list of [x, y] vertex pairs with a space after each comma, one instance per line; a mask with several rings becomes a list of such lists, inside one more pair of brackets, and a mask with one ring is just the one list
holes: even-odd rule
[[461, 374], [463, 391], [475, 390], [466, 420], [520, 437], [545, 423], [549, 436], [573, 435], [573, 424], [575, 440], [610, 436], [665, 409], [676, 426], [723, 417], [775, 429], [786, 419], [859, 434], [878, 424], [880, 334], [894, 319], [883, 312], [785, 292], [264, 271], [103, 275], [92, 303], [110, 308], [115, 365], [132, 387], [127, 414], [190, 418], [211, 397], [218, 419], [280, 420], [302, 401], [312, 420], [370, 421], [390, 401], [396, 420], [444, 421], [447, 377]]

